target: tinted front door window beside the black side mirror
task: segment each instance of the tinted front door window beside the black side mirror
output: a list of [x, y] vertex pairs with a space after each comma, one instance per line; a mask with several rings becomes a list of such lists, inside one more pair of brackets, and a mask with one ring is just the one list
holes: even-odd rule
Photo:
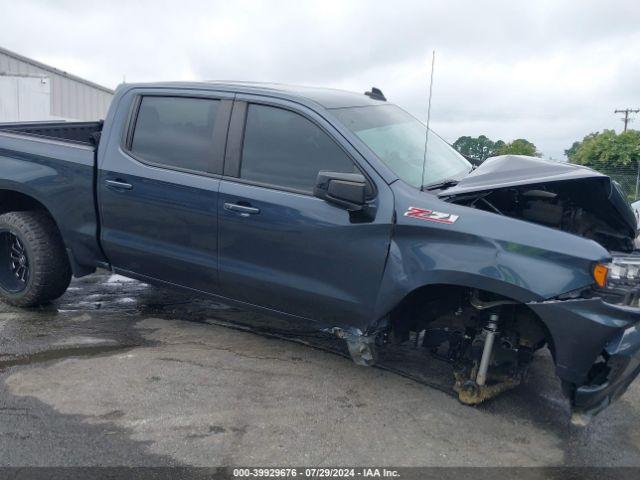
[[312, 193], [320, 170], [357, 172], [347, 154], [313, 122], [281, 108], [249, 105], [241, 178]]

